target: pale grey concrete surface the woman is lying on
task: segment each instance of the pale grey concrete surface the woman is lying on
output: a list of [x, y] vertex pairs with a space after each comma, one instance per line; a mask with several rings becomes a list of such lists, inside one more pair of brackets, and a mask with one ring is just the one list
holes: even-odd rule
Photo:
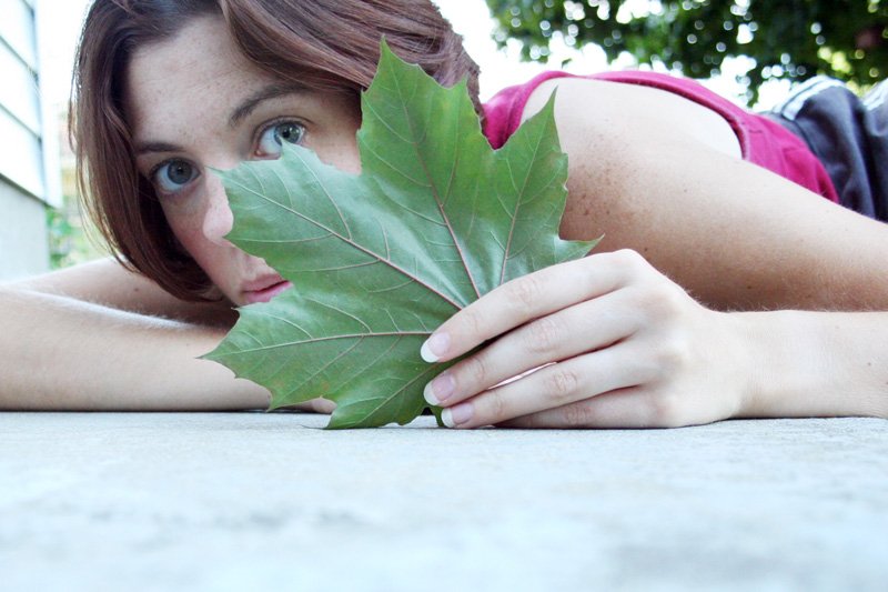
[[0, 413], [0, 590], [888, 589], [888, 421]]

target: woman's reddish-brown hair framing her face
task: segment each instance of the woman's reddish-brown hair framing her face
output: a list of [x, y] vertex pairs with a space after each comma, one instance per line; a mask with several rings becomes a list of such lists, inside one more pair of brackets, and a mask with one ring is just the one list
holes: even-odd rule
[[80, 193], [118, 259], [179, 298], [204, 300], [211, 283], [179, 245], [151, 183], [137, 171], [124, 80], [137, 49], [209, 14], [224, 19], [261, 70], [355, 96], [370, 86], [385, 36], [395, 53], [442, 84], [467, 78], [481, 114], [477, 66], [430, 0], [95, 0], [71, 97]]

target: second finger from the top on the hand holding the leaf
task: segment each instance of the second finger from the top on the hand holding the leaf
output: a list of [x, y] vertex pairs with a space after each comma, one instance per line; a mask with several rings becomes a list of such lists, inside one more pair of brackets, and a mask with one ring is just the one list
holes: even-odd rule
[[622, 341], [644, 322], [632, 290], [587, 300], [532, 321], [454, 364], [425, 387], [425, 400], [454, 405], [535, 368]]

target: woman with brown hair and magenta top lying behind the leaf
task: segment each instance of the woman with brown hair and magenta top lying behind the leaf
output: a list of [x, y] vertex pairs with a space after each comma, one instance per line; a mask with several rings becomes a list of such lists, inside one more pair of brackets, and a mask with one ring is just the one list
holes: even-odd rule
[[[360, 171], [359, 92], [383, 34], [440, 82], [476, 89], [426, 0], [97, 0], [75, 129], [91, 211], [120, 257], [2, 288], [0, 405], [264, 407], [264, 389], [196, 359], [232, 305], [291, 289], [225, 241], [210, 168], [292, 142]], [[888, 310], [888, 228], [818, 195], [834, 184], [778, 124], [633, 76], [546, 74], [478, 106], [502, 143], [557, 88], [562, 234], [605, 239], [438, 328], [430, 361], [491, 343], [426, 399], [461, 428], [888, 417], [888, 313], [852, 312]]]

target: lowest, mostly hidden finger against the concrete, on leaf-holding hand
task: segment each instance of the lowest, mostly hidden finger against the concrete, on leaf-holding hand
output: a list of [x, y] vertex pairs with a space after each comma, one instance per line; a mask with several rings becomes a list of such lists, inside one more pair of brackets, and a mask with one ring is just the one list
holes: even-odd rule
[[652, 393], [640, 388], [623, 389], [507, 420], [497, 427], [555, 430], [665, 427], [660, 405], [653, 398]]

